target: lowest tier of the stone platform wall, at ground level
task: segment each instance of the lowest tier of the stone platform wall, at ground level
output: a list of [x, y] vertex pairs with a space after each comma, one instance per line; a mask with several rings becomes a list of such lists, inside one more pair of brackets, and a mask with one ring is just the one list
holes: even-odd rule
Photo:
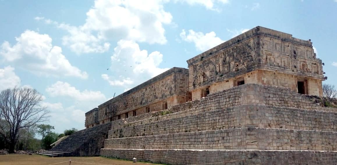
[[[268, 150], [135, 150], [101, 149], [101, 156], [184, 165], [227, 162], [225, 165], [336, 165], [336, 151]], [[224, 164], [224, 163], [223, 163]]]

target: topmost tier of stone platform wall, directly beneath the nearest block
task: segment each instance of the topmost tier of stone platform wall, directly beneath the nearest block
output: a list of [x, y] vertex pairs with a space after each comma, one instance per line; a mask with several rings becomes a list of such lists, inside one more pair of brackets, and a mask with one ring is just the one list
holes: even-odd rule
[[[316, 96], [317, 98], [320, 98]], [[306, 110], [319, 110], [336, 112], [334, 108], [320, 107], [309, 95], [302, 95], [293, 92], [289, 88], [267, 86], [260, 84], [244, 84], [234, 88], [226, 89], [209, 94], [205, 98], [188, 101], [183, 104], [173, 106], [168, 111], [171, 113], [191, 110], [192, 113], [218, 110], [245, 104], [270, 105], [278, 107], [299, 108]], [[162, 112], [142, 114], [136, 117], [125, 119], [126, 122], [139, 120], [149, 120], [158, 116]], [[171, 114], [170, 114], [171, 115]], [[116, 122], [116, 124], [114, 124]], [[113, 127], [121, 123], [120, 120], [112, 122]], [[123, 123], [123, 122], [122, 122]]]

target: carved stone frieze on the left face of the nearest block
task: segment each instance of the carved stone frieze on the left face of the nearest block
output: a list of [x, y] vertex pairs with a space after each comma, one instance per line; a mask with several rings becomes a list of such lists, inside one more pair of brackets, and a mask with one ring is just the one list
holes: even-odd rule
[[208, 58], [200, 57], [198, 63], [189, 64], [190, 89], [255, 70], [259, 64], [253, 60], [257, 58], [254, 50], [256, 43], [257, 38], [251, 38]]

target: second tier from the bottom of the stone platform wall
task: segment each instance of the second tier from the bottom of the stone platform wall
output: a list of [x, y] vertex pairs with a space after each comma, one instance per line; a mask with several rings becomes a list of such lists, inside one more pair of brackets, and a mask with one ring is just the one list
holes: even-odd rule
[[330, 131], [248, 127], [105, 139], [104, 148], [335, 151], [336, 137]]

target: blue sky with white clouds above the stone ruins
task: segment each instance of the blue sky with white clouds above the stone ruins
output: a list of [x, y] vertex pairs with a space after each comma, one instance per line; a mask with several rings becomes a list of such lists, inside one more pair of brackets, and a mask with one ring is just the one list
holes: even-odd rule
[[311, 39], [337, 86], [336, 0], [0, 0], [0, 90], [36, 88], [55, 131], [256, 26]]

